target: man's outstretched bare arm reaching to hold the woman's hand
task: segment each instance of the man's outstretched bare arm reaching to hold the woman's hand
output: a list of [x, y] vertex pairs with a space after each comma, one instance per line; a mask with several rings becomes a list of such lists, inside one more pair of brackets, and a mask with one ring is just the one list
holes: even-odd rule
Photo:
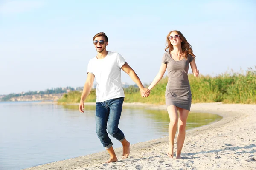
[[125, 73], [127, 73], [131, 77], [131, 79], [138, 85], [138, 87], [140, 88], [141, 96], [148, 97], [148, 95], [150, 94], [150, 90], [144, 88], [143, 84], [140, 81], [140, 78], [137, 76], [135, 71], [130, 67], [130, 65], [128, 65], [127, 62], [125, 62], [125, 64], [122, 66], [122, 70]]

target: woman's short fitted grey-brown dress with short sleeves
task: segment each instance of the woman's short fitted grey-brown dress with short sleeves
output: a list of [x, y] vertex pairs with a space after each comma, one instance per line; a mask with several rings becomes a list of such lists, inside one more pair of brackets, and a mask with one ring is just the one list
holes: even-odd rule
[[162, 62], [167, 64], [168, 83], [166, 86], [166, 107], [175, 105], [190, 111], [192, 94], [189, 85], [189, 63], [194, 60], [191, 55], [187, 60], [184, 58], [175, 61], [169, 52], [163, 55]]

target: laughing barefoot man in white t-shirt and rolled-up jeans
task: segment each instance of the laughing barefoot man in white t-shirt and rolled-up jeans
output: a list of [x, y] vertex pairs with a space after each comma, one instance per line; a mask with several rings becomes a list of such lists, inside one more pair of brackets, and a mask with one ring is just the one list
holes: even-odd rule
[[130, 143], [126, 140], [124, 133], [118, 128], [125, 97], [121, 83], [121, 69], [138, 85], [141, 96], [147, 97], [150, 91], [143, 87], [137, 74], [119, 53], [106, 50], [108, 37], [105, 33], [100, 32], [96, 34], [93, 37], [93, 44], [98, 54], [88, 63], [87, 79], [81, 95], [79, 111], [84, 112], [84, 100], [92, 89], [95, 77], [97, 82], [96, 133], [103, 147], [110, 154], [110, 159], [107, 163], [116, 162], [117, 157], [108, 133], [122, 143], [122, 159], [127, 158], [130, 153]]

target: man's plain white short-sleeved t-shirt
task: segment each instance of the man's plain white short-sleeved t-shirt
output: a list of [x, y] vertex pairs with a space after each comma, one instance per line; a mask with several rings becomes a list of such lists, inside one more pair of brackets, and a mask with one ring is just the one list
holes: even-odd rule
[[96, 102], [125, 97], [121, 82], [121, 68], [125, 62], [119, 53], [111, 51], [104, 59], [90, 59], [87, 73], [94, 74], [96, 78]]

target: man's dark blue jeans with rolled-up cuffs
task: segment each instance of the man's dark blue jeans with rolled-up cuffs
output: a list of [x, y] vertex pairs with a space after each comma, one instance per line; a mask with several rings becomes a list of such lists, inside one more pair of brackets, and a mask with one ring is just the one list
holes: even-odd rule
[[109, 149], [113, 145], [108, 133], [120, 142], [125, 139], [124, 133], [118, 128], [123, 101], [124, 98], [120, 97], [96, 103], [96, 133], [105, 149]]

